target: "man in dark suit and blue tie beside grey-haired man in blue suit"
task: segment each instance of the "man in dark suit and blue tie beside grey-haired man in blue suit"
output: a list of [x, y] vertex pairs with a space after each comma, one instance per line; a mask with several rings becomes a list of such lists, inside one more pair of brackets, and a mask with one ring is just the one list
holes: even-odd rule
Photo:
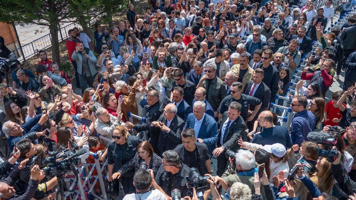
[[227, 164], [227, 157], [222, 153], [229, 149], [236, 152], [237, 149], [240, 148], [237, 141], [246, 130], [245, 121], [240, 116], [240, 113], [241, 104], [232, 101], [227, 111], [227, 116], [224, 116], [223, 119], [218, 121], [218, 148], [213, 151], [213, 155], [218, 157], [218, 170], [216, 171], [216, 175], [219, 177], [225, 172]]

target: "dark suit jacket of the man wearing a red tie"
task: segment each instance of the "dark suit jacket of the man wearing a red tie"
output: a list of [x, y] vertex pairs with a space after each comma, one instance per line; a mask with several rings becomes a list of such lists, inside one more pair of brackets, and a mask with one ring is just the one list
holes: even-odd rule
[[[244, 88], [244, 94], [246, 94], [246, 95], [250, 94], [252, 84], [253, 84], [253, 80], [247, 81], [245, 88]], [[258, 116], [258, 114], [260, 114], [260, 112], [267, 109], [267, 107], [269, 105], [269, 99], [271, 98], [271, 90], [268, 88], [268, 86], [265, 83], [263, 83], [263, 81], [261, 81], [260, 86], [258, 86], [258, 88], [255, 90], [256, 90], [256, 92], [253, 95], [253, 97], [260, 99], [262, 101], [261, 108], [258, 111], [258, 113], [256, 114], [256, 116]], [[253, 110], [253, 109], [255, 109], [255, 105], [250, 105], [250, 110]]]

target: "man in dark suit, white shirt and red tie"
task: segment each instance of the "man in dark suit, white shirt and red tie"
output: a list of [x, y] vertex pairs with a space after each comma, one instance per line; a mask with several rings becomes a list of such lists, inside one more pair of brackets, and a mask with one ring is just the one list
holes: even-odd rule
[[[271, 98], [271, 90], [265, 83], [262, 82], [263, 74], [264, 72], [261, 68], [255, 69], [255, 71], [253, 72], [252, 80], [247, 81], [244, 88], [244, 94], [253, 96], [262, 101], [261, 108], [257, 111], [253, 120], [247, 122], [247, 127], [250, 131], [252, 130], [253, 123], [257, 120], [258, 115], [268, 108], [269, 99]], [[250, 110], [253, 109], [255, 109], [255, 106], [251, 105]]]

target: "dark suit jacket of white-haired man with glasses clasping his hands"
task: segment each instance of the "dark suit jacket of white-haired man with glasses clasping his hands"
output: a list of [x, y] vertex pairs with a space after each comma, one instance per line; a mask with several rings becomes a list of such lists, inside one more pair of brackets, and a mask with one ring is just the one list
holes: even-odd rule
[[[160, 121], [164, 123], [164, 125], [167, 125], [167, 119], [164, 118], [163, 114], [159, 117], [157, 121]], [[159, 139], [157, 146], [161, 155], [164, 151], [173, 150], [179, 144], [182, 143], [181, 133], [183, 131], [184, 125], [185, 123], [182, 118], [176, 115], [173, 117], [172, 122], [168, 127], [169, 129], [171, 129], [171, 131], [163, 132], [161, 128], [157, 127], [159, 129]]]

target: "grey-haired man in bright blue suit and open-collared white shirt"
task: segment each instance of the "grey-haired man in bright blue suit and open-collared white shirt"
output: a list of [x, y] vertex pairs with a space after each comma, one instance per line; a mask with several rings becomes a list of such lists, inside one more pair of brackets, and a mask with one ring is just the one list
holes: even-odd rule
[[196, 101], [193, 106], [193, 113], [188, 115], [185, 128], [193, 128], [198, 142], [208, 146], [210, 155], [213, 154], [215, 144], [218, 142], [218, 125], [214, 117], [205, 114], [205, 103]]

